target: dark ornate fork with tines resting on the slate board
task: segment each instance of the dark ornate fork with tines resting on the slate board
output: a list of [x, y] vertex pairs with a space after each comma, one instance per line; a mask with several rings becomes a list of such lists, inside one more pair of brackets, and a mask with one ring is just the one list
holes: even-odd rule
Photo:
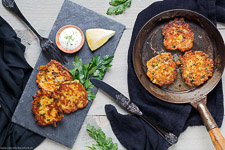
[[2, 0], [3, 6], [14, 12], [39, 38], [40, 46], [45, 56], [49, 59], [55, 59], [60, 61], [61, 63], [67, 63], [67, 59], [61, 54], [59, 49], [55, 46], [55, 44], [48, 38], [44, 38], [38, 34], [38, 32], [31, 26], [31, 24], [27, 21], [27, 19], [20, 12], [19, 8], [16, 5], [14, 0]]

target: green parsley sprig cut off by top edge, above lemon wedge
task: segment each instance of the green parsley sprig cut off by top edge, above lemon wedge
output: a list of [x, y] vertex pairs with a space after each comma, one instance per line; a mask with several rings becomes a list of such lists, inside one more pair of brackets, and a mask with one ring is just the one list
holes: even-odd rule
[[132, 0], [111, 0], [109, 2], [113, 7], [109, 7], [106, 14], [107, 15], [119, 15], [122, 14], [127, 7], [131, 6]]

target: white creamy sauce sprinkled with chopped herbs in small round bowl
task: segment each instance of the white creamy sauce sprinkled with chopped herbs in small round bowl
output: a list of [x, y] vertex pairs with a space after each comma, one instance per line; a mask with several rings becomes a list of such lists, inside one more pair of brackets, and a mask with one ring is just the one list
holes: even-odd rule
[[79, 30], [76, 28], [66, 28], [59, 35], [59, 42], [63, 48], [73, 50], [77, 48], [82, 40], [82, 36]]

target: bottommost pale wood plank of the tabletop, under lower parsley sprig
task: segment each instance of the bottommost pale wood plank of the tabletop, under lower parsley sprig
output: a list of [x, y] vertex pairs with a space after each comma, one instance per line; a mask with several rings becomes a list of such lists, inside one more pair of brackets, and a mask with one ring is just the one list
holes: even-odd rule
[[[94, 125], [95, 127], [101, 127], [102, 130], [106, 133], [107, 137], [112, 137], [113, 141], [118, 143], [115, 135], [112, 132], [111, 126], [108, 122], [108, 119], [105, 116], [87, 116], [84, 124], [79, 132], [78, 138], [73, 146], [73, 150], [86, 150], [85, 146], [94, 144], [95, 141], [89, 137], [86, 132], [87, 124]], [[220, 129], [221, 133], [225, 134], [225, 125], [223, 125]], [[43, 143], [41, 143], [36, 150], [42, 149], [60, 149], [67, 150], [68, 148], [64, 147], [61, 144], [55, 143], [49, 139], [46, 139]], [[124, 147], [119, 145], [119, 150], [123, 150]], [[204, 126], [194, 126], [189, 127], [186, 131], [181, 133], [178, 143], [171, 146], [169, 150], [213, 150], [213, 144], [210, 140], [207, 130]]]

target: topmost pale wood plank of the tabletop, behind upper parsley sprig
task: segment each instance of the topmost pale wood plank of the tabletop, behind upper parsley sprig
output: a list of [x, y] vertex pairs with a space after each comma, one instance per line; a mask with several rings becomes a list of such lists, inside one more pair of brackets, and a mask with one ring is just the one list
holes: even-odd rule
[[[109, 1], [106, 0], [97, 0], [97, 1], [89, 1], [89, 0], [72, 0], [81, 6], [85, 6], [99, 14], [102, 14], [106, 17], [109, 17], [115, 21], [118, 21], [124, 24], [127, 28], [132, 28], [135, 22], [137, 14], [155, 2], [156, 0], [135, 0], [132, 2], [130, 8], [128, 8], [123, 15], [118, 16], [109, 16], [106, 15], [106, 11], [110, 5]], [[35, 29], [45, 29], [46, 31], [51, 30], [51, 27], [57, 17], [57, 14], [61, 8], [63, 3], [62, 0], [32, 0], [32, 1], [24, 1], [17, 0], [16, 3], [20, 8], [21, 12], [27, 18], [27, 20], [34, 26]], [[7, 22], [12, 25], [13, 28], [16, 29], [25, 29], [25, 25], [21, 22], [18, 22], [18, 18], [6, 10], [2, 5], [0, 5], [0, 10], [2, 17], [6, 19]]]

